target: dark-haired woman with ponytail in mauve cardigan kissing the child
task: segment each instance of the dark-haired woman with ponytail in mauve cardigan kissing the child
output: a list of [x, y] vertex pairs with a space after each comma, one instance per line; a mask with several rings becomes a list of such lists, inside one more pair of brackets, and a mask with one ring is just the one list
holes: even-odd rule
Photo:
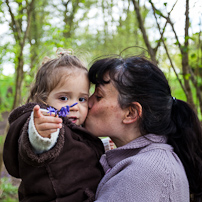
[[99, 59], [85, 127], [117, 149], [100, 162], [97, 202], [202, 201], [202, 129], [190, 106], [171, 96], [162, 71], [143, 57]]

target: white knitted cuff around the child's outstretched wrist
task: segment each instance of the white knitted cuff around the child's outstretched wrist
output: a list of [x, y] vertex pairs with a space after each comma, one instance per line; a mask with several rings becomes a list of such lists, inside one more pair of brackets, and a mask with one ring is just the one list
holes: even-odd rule
[[54, 133], [51, 133], [51, 138], [44, 138], [39, 135], [34, 125], [34, 113], [31, 113], [29, 127], [28, 127], [28, 137], [29, 141], [34, 148], [36, 154], [41, 154], [45, 151], [50, 150], [57, 142], [60, 129]]

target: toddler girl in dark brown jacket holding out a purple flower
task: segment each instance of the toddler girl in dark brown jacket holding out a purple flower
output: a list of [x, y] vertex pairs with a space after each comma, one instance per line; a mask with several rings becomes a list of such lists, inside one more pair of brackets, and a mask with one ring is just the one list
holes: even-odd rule
[[[93, 201], [103, 176], [103, 144], [80, 126], [88, 113], [88, 71], [77, 57], [59, 55], [40, 67], [28, 103], [9, 116], [3, 157], [9, 174], [22, 179], [19, 201]], [[67, 116], [58, 117], [61, 109]]]

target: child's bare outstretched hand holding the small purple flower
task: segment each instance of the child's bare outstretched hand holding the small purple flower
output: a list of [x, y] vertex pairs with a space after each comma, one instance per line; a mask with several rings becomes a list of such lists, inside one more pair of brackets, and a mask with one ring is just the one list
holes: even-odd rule
[[33, 109], [34, 112], [34, 125], [37, 132], [42, 137], [50, 138], [51, 133], [56, 132], [58, 128], [62, 128], [62, 119], [54, 117], [53, 115], [44, 115], [40, 111], [39, 105], [36, 105]]

